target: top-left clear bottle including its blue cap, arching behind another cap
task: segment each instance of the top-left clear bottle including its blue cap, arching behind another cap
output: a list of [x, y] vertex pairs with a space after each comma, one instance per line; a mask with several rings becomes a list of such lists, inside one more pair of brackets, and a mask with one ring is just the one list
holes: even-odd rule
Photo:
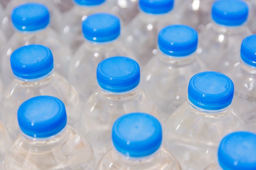
[[8, 85], [12, 80], [9, 64], [11, 53], [20, 46], [29, 44], [42, 44], [49, 47], [54, 54], [56, 71], [66, 77], [71, 57], [70, 50], [62, 43], [57, 33], [49, 27], [48, 8], [34, 2], [21, 4], [13, 9], [11, 19], [16, 31], [1, 53], [1, 74], [4, 84]]

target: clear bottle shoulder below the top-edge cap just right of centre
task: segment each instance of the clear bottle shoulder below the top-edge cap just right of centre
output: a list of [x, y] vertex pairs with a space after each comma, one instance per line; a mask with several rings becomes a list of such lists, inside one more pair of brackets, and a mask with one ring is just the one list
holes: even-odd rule
[[140, 12], [126, 26], [122, 39], [126, 46], [134, 51], [137, 62], [143, 67], [151, 57], [159, 53], [158, 32], [164, 26], [179, 24], [177, 16], [171, 11], [166, 14], [148, 14]]

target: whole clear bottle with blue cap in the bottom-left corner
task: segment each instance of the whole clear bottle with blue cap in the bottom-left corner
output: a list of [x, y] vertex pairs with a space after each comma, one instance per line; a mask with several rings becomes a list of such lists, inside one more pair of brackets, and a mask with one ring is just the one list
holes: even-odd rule
[[20, 135], [4, 159], [4, 170], [94, 170], [89, 142], [67, 125], [63, 102], [37, 96], [18, 108]]

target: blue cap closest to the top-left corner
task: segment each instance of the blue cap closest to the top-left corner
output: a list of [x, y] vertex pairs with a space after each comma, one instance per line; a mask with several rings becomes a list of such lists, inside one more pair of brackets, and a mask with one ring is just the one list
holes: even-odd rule
[[19, 31], [37, 31], [49, 24], [50, 14], [45, 5], [31, 2], [14, 8], [11, 20]]

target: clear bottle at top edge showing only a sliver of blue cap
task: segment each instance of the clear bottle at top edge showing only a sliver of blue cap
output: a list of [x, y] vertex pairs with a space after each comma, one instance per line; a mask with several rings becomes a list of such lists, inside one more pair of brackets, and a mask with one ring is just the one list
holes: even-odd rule
[[97, 12], [110, 12], [108, 0], [72, 0], [74, 7], [63, 16], [62, 37], [74, 53], [84, 42], [82, 22]]

